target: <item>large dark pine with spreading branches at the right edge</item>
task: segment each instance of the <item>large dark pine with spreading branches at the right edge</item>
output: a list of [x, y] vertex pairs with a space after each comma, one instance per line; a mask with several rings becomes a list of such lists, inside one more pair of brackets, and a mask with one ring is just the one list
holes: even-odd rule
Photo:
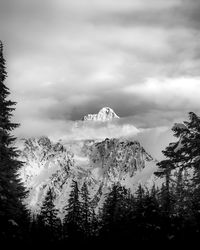
[[190, 112], [189, 121], [175, 124], [172, 130], [178, 141], [163, 151], [167, 159], [158, 163], [156, 174], [168, 179], [161, 196], [165, 195], [168, 206], [170, 230], [176, 228], [176, 234], [184, 238], [182, 232], [188, 233], [186, 227], [193, 225], [197, 232], [200, 228], [200, 117]]

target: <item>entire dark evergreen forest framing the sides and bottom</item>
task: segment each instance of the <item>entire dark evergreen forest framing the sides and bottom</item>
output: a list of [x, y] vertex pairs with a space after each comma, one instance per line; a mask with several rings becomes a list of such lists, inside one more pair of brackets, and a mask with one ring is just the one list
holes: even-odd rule
[[139, 186], [135, 194], [120, 184], [112, 186], [98, 211], [86, 183], [71, 186], [63, 220], [48, 190], [41, 211], [32, 215], [23, 204], [26, 190], [18, 178], [22, 166], [13, 146], [12, 122], [16, 103], [9, 100], [3, 44], [0, 43], [0, 241], [101, 242], [193, 241], [200, 237], [200, 117], [189, 113], [182, 126], [173, 126], [175, 142], [164, 149], [155, 175], [161, 187]]

